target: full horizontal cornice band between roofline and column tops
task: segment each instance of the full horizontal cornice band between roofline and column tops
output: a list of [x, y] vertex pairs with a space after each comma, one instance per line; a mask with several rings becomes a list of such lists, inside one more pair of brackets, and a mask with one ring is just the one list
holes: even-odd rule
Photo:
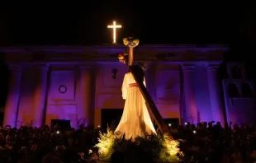
[[[135, 48], [136, 61], [198, 62], [221, 61], [225, 45], [141, 44]], [[123, 44], [97, 46], [24, 46], [0, 47], [6, 63], [76, 63], [116, 62], [117, 54], [126, 51]]]

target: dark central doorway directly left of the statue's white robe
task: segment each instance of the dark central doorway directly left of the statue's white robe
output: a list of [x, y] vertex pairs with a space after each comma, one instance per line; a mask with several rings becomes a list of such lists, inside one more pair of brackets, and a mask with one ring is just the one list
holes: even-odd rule
[[107, 129], [107, 125], [117, 127], [122, 114], [123, 109], [102, 109], [102, 128]]

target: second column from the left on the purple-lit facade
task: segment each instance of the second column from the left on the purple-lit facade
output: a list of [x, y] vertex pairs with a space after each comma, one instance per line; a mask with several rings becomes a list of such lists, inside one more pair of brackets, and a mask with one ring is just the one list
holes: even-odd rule
[[47, 90], [47, 77], [49, 68], [45, 65], [37, 66], [37, 80], [35, 87], [35, 107], [33, 119], [36, 121], [36, 127], [39, 128], [45, 124], [45, 102]]

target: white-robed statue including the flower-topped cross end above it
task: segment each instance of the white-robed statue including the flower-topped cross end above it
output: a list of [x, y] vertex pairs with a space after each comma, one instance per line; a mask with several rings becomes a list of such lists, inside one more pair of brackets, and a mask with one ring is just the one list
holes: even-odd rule
[[[123, 40], [128, 46], [128, 54], [119, 54], [118, 58], [122, 63], [131, 66], [133, 63], [133, 48], [139, 44], [139, 40], [126, 38]], [[129, 50], [130, 49], [130, 50]], [[145, 67], [142, 63], [134, 66], [137, 80], [139, 79], [146, 86]], [[134, 142], [136, 137], [146, 137], [156, 134], [154, 124], [152, 123], [149, 111], [145, 105], [145, 98], [140, 92], [138, 83], [135, 81], [134, 75], [127, 72], [121, 87], [122, 97], [126, 100], [121, 121], [118, 124], [115, 134], [116, 136], [125, 135], [126, 139]]]

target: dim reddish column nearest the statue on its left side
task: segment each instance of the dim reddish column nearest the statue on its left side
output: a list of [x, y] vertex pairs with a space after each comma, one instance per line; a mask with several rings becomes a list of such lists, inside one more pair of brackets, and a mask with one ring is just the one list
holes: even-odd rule
[[85, 119], [87, 126], [93, 125], [92, 108], [92, 68], [89, 66], [80, 66], [80, 105], [78, 108], [78, 118]]

